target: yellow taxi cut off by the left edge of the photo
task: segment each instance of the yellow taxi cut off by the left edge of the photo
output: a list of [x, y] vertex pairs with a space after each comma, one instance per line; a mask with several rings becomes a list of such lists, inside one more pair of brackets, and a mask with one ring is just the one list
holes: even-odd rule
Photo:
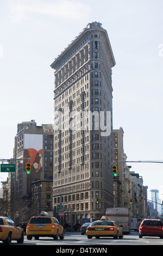
[[12, 240], [23, 243], [24, 231], [9, 217], [0, 217], [0, 240], [4, 245], [10, 245]]

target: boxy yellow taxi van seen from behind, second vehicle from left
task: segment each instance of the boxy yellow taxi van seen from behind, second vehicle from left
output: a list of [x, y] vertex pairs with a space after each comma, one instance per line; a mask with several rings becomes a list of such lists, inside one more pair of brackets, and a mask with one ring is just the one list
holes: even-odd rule
[[26, 227], [27, 239], [32, 240], [32, 237], [39, 239], [39, 237], [53, 237], [58, 240], [64, 239], [64, 228], [59, 224], [55, 217], [51, 216], [34, 216], [31, 217]]

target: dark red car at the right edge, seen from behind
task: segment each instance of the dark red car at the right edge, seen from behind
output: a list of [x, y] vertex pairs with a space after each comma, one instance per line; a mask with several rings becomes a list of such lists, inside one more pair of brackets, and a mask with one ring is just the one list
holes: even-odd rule
[[139, 227], [139, 237], [159, 236], [163, 239], [163, 225], [160, 220], [145, 219]]

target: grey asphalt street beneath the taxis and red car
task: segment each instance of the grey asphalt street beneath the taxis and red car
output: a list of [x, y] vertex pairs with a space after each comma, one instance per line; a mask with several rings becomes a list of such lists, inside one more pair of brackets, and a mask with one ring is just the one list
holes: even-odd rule
[[[3, 242], [0, 242], [0, 245], [3, 245]], [[16, 241], [12, 241], [11, 245], [53, 245], [53, 246], [75, 246], [74, 248], [80, 248], [82, 246], [93, 248], [98, 246], [111, 246], [111, 245], [163, 245], [163, 239], [159, 237], [142, 237], [139, 238], [139, 233], [136, 231], [131, 231], [129, 235], [123, 236], [123, 239], [113, 239], [112, 237], [100, 237], [96, 239], [87, 239], [86, 235], [81, 235], [79, 232], [66, 232], [64, 240], [54, 240], [51, 237], [40, 237], [39, 240], [27, 240], [27, 237], [24, 236], [24, 243], [18, 244]], [[78, 247], [76, 247], [78, 246]]]

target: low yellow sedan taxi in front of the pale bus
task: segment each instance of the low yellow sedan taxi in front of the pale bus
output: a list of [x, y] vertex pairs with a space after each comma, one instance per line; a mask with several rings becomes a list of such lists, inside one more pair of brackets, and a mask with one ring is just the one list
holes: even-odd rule
[[114, 239], [123, 238], [123, 229], [115, 221], [94, 221], [87, 227], [86, 235], [88, 239], [93, 236], [112, 236]]

